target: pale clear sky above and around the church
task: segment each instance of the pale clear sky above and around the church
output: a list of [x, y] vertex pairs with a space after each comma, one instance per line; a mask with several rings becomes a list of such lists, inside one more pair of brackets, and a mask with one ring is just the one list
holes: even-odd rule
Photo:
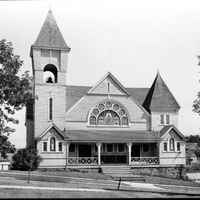
[[[30, 47], [49, 8], [71, 48], [67, 84], [94, 86], [110, 71], [124, 87], [151, 87], [159, 70], [181, 106], [179, 130], [200, 134], [192, 111], [200, 91], [199, 0], [40, 0], [0, 1], [0, 39], [12, 42], [32, 75]], [[26, 146], [25, 109], [10, 134]]]

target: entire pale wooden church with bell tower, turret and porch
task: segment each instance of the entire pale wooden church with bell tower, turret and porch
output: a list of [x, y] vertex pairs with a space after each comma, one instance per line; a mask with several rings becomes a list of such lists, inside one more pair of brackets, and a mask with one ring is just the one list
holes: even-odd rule
[[159, 72], [149, 88], [127, 88], [111, 72], [91, 87], [66, 85], [69, 54], [49, 10], [30, 50], [37, 98], [26, 110], [40, 168], [186, 164], [180, 106]]

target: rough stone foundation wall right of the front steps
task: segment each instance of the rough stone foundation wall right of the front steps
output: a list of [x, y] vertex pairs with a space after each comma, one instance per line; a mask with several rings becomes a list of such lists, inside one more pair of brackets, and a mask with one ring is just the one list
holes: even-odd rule
[[148, 175], [148, 176], [158, 176], [172, 179], [183, 179], [188, 180], [186, 176], [186, 167], [141, 167], [132, 168], [133, 174], [136, 175]]

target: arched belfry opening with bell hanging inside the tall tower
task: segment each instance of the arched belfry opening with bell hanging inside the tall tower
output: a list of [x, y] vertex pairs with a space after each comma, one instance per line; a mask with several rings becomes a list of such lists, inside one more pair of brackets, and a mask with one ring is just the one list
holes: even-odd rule
[[57, 74], [57, 68], [54, 65], [46, 65], [43, 73], [44, 83], [57, 83]]

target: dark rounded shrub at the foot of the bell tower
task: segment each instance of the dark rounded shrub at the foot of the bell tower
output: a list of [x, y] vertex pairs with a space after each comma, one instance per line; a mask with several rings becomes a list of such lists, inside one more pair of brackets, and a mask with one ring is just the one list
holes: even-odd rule
[[19, 149], [12, 157], [12, 169], [34, 170], [37, 169], [42, 158], [37, 155], [37, 150], [30, 148]]

